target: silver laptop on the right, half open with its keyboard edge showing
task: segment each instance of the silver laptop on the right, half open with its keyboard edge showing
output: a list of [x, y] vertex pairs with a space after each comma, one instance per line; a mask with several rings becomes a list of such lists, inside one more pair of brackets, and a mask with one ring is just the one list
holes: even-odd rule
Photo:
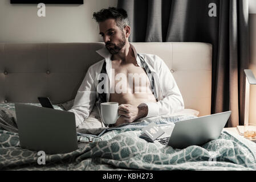
[[230, 114], [231, 111], [226, 111], [176, 122], [174, 127], [165, 127], [165, 134], [156, 139], [155, 143], [168, 144], [173, 148], [186, 148], [217, 139]]

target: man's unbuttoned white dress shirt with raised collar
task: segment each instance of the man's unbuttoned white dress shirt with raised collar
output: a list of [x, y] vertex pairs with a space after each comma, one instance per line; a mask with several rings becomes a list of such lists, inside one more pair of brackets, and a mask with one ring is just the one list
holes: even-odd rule
[[[137, 64], [141, 67], [140, 58], [137, 56], [137, 52], [131, 43], [130, 45], [135, 54]], [[71, 108], [71, 110], [68, 110], [75, 113], [76, 127], [78, 127], [80, 123], [88, 118], [94, 105], [96, 105], [100, 114], [100, 104], [98, 100], [99, 94], [96, 92], [96, 88], [97, 84], [99, 83], [99, 80], [97, 80], [97, 75], [100, 74], [104, 61], [106, 62], [106, 71], [109, 78], [108, 80], [111, 80], [111, 53], [109, 53], [105, 47], [96, 52], [103, 56], [104, 59], [88, 68], [86, 76], [84, 77], [84, 80], [78, 89], [78, 93], [76, 94], [74, 106]], [[173, 114], [178, 110], [184, 109], [184, 101], [180, 90], [178, 89], [176, 81], [174, 80], [172, 73], [164, 61], [156, 55], [144, 53], [140, 53], [139, 55], [144, 58], [144, 61], [151, 70], [157, 96], [157, 102], [143, 102], [139, 105], [148, 106], [148, 114], [145, 118], [155, 117], [157, 115]], [[110, 90], [111, 81], [108, 82], [108, 86], [108, 90]], [[106, 96], [107, 102], [109, 102], [110, 93], [106, 93]]]

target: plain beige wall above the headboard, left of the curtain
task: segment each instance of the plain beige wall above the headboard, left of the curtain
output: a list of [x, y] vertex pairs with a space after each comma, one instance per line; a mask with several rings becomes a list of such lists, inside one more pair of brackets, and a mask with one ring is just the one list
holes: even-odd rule
[[83, 5], [46, 5], [38, 17], [37, 5], [11, 5], [0, 0], [0, 42], [100, 42], [92, 13], [117, 0], [84, 0]]

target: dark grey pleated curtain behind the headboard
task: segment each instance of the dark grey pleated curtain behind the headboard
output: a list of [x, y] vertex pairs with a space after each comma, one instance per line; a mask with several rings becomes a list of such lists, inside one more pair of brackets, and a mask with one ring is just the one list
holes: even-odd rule
[[[210, 3], [217, 16], [210, 17]], [[212, 114], [231, 110], [226, 127], [243, 125], [249, 67], [248, 0], [119, 0], [128, 13], [130, 42], [213, 45]]]

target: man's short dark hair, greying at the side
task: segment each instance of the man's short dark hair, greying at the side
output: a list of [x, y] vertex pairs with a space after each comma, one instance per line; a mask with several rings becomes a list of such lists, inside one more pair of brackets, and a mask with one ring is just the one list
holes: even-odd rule
[[121, 8], [109, 7], [108, 9], [101, 9], [98, 12], [94, 12], [93, 16], [98, 23], [110, 18], [115, 19], [116, 25], [120, 30], [129, 25], [127, 12]]

